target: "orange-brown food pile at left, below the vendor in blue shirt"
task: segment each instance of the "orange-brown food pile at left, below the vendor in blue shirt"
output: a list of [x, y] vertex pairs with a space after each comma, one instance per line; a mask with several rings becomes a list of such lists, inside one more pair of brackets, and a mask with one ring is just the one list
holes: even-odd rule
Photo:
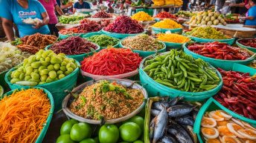
[[39, 50], [44, 49], [49, 44], [53, 44], [56, 40], [56, 36], [36, 33], [31, 36], [24, 36], [21, 39], [16, 39], [12, 44], [19, 47], [22, 51], [34, 54]]

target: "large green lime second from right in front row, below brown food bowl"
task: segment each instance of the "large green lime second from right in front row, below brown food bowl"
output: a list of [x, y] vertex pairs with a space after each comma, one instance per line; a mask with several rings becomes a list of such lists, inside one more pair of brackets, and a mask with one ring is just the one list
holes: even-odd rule
[[100, 143], [116, 143], [119, 138], [119, 130], [115, 124], [104, 124], [100, 127], [99, 140]]

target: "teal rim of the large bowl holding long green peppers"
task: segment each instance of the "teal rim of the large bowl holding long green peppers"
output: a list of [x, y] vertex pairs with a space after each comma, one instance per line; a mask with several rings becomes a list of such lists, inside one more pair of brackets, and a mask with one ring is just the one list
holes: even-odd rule
[[[164, 54], [167, 54], [167, 53], [169, 53], [170, 51], [168, 51], [168, 52], [164, 52], [164, 53], [159, 53], [160, 55], [164, 55]], [[151, 56], [147, 56], [146, 58], [144, 58], [142, 61], [141, 61], [141, 64], [139, 65], [139, 70], [141, 70], [146, 76], [147, 76], [147, 78], [148, 79], [151, 79], [155, 84], [159, 84], [159, 82], [156, 82], [155, 80], [153, 80], [152, 78], [150, 78], [150, 76], [148, 76], [147, 75], [147, 73], [143, 70], [144, 68], [144, 62], [147, 60], [147, 59], [150, 59], [150, 58], [152, 58], [153, 56], [151, 55]], [[205, 61], [206, 62], [206, 61]], [[208, 62], [207, 62], [208, 63]], [[210, 67], [212, 67], [215, 71], [216, 71], [216, 73], [217, 73], [217, 76], [220, 78], [220, 83], [217, 85], [217, 87], [215, 87], [215, 88], [213, 88], [213, 89], [211, 89], [211, 90], [206, 90], [206, 91], [202, 91], [202, 92], [196, 92], [196, 93], [193, 93], [193, 92], [187, 92], [187, 91], [182, 91], [182, 90], [177, 90], [177, 89], [175, 89], [175, 88], [170, 88], [170, 87], [167, 87], [167, 86], [165, 86], [165, 85], [163, 85], [163, 84], [160, 84], [162, 87], [165, 87], [165, 88], [169, 88], [169, 89], [171, 89], [171, 90], [173, 90], [174, 92], [183, 92], [183, 93], [187, 93], [187, 94], [191, 94], [191, 95], [193, 95], [193, 94], [200, 94], [200, 93], [210, 93], [210, 92], [214, 92], [214, 90], [216, 90], [218, 87], [223, 87], [223, 77], [221, 76], [221, 74], [220, 74], [220, 72], [215, 68], [215, 67], [213, 67], [211, 64], [209, 64], [208, 63], [208, 65], [210, 66]], [[184, 95], [184, 96], [186, 96], [186, 97], [188, 97], [188, 95]], [[200, 96], [191, 96], [191, 97], [200, 97]]]

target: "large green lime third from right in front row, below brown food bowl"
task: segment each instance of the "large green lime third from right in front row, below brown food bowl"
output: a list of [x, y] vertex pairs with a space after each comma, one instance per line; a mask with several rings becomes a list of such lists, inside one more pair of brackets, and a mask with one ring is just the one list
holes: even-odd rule
[[70, 137], [76, 142], [81, 142], [92, 135], [92, 127], [87, 123], [74, 124], [70, 131]]

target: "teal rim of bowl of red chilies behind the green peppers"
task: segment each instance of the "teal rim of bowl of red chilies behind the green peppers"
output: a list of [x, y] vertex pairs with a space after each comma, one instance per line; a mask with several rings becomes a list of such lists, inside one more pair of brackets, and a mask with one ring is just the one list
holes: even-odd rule
[[[201, 43], [205, 43], [205, 42], [201, 42]], [[241, 62], [241, 61], [252, 61], [255, 59], [256, 57], [256, 53], [253, 54], [250, 58], [246, 59], [246, 60], [226, 60], [226, 59], [214, 59], [214, 58], [210, 58], [210, 57], [207, 57], [207, 56], [202, 56], [198, 53], [194, 53], [192, 52], [191, 50], [188, 50], [187, 48], [187, 45], [188, 45], [188, 42], [186, 42], [185, 44], [182, 45], [182, 47], [184, 48], [184, 52], [187, 53], [187, 52], [190, 52], [190, 54], [193, 56], [198, 56], [199, 58], [204, 58], [204, 59], [208, 59], [208, 60], [212, 60], [212, 61], [227, 61], [227, 62]], [[242, 48], [242, 47], [240, 47]], [[247, 50], [245, 48], [243, 48], [244, 50]], [[250, 50], [249, 50], [250, 51]], [[252, 51], [250, 51], [252, 52]], [[187, 53], [188, 54], [188, 53]]]

